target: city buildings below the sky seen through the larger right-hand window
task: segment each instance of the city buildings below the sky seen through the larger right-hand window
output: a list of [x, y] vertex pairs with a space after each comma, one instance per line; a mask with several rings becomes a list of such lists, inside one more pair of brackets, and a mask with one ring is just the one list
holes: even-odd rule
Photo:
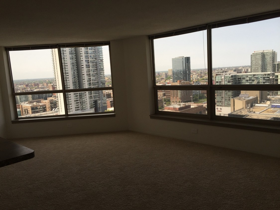
[[[274, 85], [279, 84], [280, 62], [276, 63], [274, 50], [260, 50], [251, 53], [250, 67], [228, 67], [213, 71], [214, 85]], [[188, 60], [189, 59], [189, 60]], [[172, 58], [172, 72], [157, 73], [156, 85], [201, 85], [207, 74], [192, 71], [192, 81], [186, 82], [186, 67], [190, 57]], [[279, 64], [279, 65], [278, 65]], [[167, 76], [168, 75], [168, 76]], [[182, 79], [182, 80], [179, 80]], [[177, 82], [178, 81], [178, 82]], [[188, 84], [190, 83], [190, 84]], [[205, 83], [204, 83], [205, 84]], [[279, 90], [215, 90], [215, 115], [264, 120], [279, 120]], [[206, 90], [157, 90], [158, 110], [207, 114]]]

